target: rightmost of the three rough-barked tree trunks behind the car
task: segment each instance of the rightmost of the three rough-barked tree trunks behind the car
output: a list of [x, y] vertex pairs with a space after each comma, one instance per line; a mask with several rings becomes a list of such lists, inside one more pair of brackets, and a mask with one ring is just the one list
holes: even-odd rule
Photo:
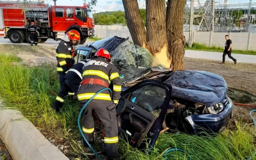
[[183, 35], [183, 15], [187, 0], [168, 0], [166, 11], [166, 32], [172, 70], [185, 69], [185, 37]]

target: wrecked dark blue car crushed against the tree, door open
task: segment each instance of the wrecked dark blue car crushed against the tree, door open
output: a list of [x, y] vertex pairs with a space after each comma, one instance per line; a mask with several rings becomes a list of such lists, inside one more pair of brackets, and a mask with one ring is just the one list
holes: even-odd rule
[[91, 58], [103, 47], [123, 80], [116, 108], [118, 132], [142, 148], [153, 146], [159, 132], [221, 132], [232, 117], [233, 102], [223, 77], [205, 71], [169, 71], [144, 48], [110, 37], [78, 47], [79, 58]]

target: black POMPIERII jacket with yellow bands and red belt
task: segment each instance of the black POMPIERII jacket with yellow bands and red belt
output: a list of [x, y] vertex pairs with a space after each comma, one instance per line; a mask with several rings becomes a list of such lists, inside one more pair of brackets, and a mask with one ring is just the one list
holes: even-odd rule
[[[116, 66], [105, 60], [105, 58], [97, 57], [87, 62], [83, 67], [83, 81], [78, 91], [78, 100], [85, 103], [94, 96], [99, 90], [106, 88], [110, 83], [113, 85], [112, 98], [108, 90], [101, 92], [93, 98], [91, 102], [109, 103], [111, 100], [117, 101], [121, 94], [121, 78]], [[90, 84], [83, 84], [84, 81], [90, 80]], [[93, 84], [93, 80], [102, 80], [104, 85]]]

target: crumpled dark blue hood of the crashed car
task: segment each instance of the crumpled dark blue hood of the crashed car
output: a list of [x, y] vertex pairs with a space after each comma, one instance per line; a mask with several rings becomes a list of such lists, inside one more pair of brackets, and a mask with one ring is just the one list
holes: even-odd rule
[[227, 95], [223, 77], [205, 71], [176, 71], [164, 83], [172, 86], [172, 96], [206, 106], [222, 102]]

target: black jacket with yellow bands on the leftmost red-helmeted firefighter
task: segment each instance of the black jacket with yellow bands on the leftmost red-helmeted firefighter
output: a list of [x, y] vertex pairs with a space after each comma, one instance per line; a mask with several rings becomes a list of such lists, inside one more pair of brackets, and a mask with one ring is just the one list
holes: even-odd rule
[[66, 42], [62, 39], [56, 47], [57, 72], [65, 73], [75, 63], [74, 58], [71, 56], [71, 50], [74, 49], [71, 43], [71, 41]]

